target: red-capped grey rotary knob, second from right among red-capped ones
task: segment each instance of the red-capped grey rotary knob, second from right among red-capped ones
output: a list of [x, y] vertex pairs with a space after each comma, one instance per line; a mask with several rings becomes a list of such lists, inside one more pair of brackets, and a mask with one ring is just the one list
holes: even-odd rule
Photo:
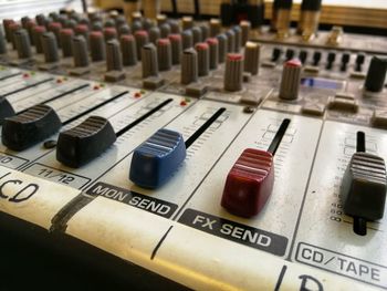
[[226, 58], [224, 90], [240, 91], [243, 81], [243, 55], [240, 53], [229, 53]]

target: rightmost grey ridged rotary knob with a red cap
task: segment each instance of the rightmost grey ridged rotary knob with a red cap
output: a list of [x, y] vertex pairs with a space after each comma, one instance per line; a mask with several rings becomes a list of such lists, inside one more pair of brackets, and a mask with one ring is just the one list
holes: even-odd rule
[[283, 64], [280, 85], [280, 98], [296, 100], [299, 97], [302, 64], [299, 60], [290, 60]]

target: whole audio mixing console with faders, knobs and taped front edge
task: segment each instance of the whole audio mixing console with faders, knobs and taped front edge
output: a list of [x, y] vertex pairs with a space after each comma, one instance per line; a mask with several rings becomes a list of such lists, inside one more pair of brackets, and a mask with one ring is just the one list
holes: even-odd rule
[[386, 38], [71, 12], [2, 29], [3, 228], [194, 289], [387, 289]]

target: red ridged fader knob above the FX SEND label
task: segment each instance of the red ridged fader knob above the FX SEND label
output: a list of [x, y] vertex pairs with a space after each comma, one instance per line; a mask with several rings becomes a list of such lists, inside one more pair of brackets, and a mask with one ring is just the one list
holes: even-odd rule
[[227, 176], [221, 206], [233, 215], [252, 217], [265, 205], [273, 184], [273, 155], [247, 148]]

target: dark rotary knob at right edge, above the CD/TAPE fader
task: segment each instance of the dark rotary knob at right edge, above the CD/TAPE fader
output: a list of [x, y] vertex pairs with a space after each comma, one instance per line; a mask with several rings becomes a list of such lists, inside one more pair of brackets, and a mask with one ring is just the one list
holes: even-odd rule
[[364, 87], [369, 92], [381, 92], [386, 80], [387, 59], [373, 56]]

